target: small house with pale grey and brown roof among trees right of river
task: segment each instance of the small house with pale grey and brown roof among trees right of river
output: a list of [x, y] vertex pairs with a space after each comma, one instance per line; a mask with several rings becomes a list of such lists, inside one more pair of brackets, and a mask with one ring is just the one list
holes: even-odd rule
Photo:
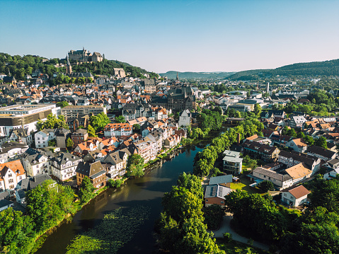
[[231, 193], [231, 188], [223, 185], [207, 185], [205, 191], [205, 207], [212, 204], [219, 204], [225, 206], [225, 196]]

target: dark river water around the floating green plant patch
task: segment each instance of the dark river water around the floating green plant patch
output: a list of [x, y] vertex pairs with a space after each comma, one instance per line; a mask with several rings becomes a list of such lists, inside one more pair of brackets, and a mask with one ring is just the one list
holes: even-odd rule
[[[207, 144], [207, 142], [204, 142]], [[161, 197], [164, 192], [176, 185], [180, 173], [193, 170], [193, 159], [203, 146], [191, 146], [183, 149], [178, 156], [166, 161], [158, 168], [139, 179], [127, 180], [127, 185], [118, 189], [108, 189], [86, 204], [71, 221], [57, 227], [36, 253], [60, 254], [66, 252], [66, 247], [77, 234], [92, 229], [103, 219], [104, 214], [119, 207], [131, 208], [139, 205], [149, 207], [149, 219], [140, 227], [130, 243], [125, 244], [118, 253], [154, 253], [156, 252], [154, 238], [154, 221], [159, 217]]]

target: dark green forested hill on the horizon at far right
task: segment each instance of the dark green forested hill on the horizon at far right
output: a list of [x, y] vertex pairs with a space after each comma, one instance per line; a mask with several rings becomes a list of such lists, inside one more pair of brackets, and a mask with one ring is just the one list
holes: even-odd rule
[[252, 80], [265, 76], [339, 76], [339, 59], [324, 62], [289, 64], [277, 69], [239, 71], [229, 76], [231, 80]]

